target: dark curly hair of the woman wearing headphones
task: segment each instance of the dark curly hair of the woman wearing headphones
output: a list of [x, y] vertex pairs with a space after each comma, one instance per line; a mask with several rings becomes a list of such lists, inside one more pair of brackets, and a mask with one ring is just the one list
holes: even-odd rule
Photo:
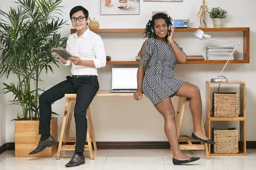
[[[146, 34], [145, 37], [148, 37], [148, 38], [153, 37], [157, 39], [157, 35], [151, 31], [151, 27], [154, 29], [154, 20], [157, 20], [157, 19], [164, 19], [166, 21], [167, 26], [169, 26], [169, 24], [172, 24], [171, 17], [169, 17], [169, 15], [165, 13], [154, 14], [146, 25], [145, 31], [143, 33], [143, 34]], [[166, 35], [166, 40], [167, 40], [167, 37], [168, 37], [168, 34]]]

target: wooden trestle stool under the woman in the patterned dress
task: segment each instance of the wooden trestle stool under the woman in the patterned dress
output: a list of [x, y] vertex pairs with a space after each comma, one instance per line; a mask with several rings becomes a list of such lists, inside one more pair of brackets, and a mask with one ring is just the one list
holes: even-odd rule
[[[187, 144], [180, 144], [180, 150], [205, 150], [206, 158], [210, 159], [207, 144], [204, 144], [203, 142], [201, 142], [201, 144], [192, 144], [192, 142], [199, 142], [199, 141], [195, 139], [190, 139], [188, 137], [180, 137], [180, 129], [181, 129], [181, 124], [183, 120], [186, 101], [187, 101], [186, 97], [179, 97], [177, 112], [175, 116], [175, 125], [177, 127], [177, 123], [180, 115], [179, 126], [177, 127], [178, 140], [179, 142], [187, 142]], [[180, 107], [181, 107], [181, 111], [180, 111]], [[205, 134], [203, 119], [201, 121], [201, 129], [202, 129], [202, 132]]]

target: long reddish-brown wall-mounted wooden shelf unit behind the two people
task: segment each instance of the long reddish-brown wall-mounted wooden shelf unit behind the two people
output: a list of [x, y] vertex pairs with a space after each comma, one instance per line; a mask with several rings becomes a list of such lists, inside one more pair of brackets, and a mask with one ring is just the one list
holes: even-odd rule
[[[230, 63], [250, 63], [250, 28], [249, 27], [238, 27], [238, 28], [175, 28], [175, 32], [195, 32], [201, 29], [202, 31], [243, 31], [243, 59], [232, 60]], [[144, 28], [125, 28], [125, 29], [91, 29], [95, 33], [121, 33], [121, 32], [144, 32]], [[71, 29], [70, 33], [73, 34], [76, 29]], [[186, 64], [224, 64], [227, 60], [188, 60]], [[109, 61], [108, 65], [137, 65], [138, 61]]]

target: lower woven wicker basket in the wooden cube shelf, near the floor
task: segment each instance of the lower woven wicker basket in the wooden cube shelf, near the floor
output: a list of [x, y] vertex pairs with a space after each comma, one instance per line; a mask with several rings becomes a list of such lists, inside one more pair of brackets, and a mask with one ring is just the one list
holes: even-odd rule
[[238, 154], [238, 130], [236, 128], [212, 128], [213, 153]]

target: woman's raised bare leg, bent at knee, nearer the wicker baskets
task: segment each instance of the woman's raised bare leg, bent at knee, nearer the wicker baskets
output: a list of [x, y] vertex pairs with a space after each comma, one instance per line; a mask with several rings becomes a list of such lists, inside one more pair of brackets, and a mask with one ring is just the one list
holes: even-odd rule
[[207, 140], [208, 138], [204, 135], [204, 133], [201, 130], [202, 101], [199, 88], [195, 85], [186, 82], [181, 86], [181, 88], [178, 91], [175, 92], [174, 95], [189, 98], [189, 108], [193, 117], [195, 136], [198, 136], [203, 140]]

